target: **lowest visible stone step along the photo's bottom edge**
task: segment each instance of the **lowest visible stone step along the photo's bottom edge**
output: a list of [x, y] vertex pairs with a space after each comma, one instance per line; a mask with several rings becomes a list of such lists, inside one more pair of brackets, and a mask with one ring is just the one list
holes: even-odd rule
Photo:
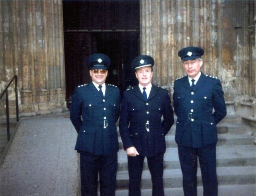
[[[182, 188], [164, 188], [166, 196], [184, 196]], [[198, 196], [203, 196], [203, 187], [197, 187]], [[99, 193], [98, 193], [99, 195]], [[116, 196], [127, 196], [128, 190], [116, 190]], [[152, 195], [152, 189], [142, 189], [141, 196]], [[234, 185], [220, 185], [218, 186], [218, 195], [220, 196], [255, 196], [256, 184], [234, 184]]]

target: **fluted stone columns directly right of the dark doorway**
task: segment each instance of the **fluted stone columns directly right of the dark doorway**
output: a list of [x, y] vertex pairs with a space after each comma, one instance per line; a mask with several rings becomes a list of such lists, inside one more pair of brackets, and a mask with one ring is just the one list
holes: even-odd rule
[[202, 71], [218, 75], [218, 2], [203, 0], [141, 0], [142, 54], [156, 60], [153, 82], [172, 87], [184, 75], [178, 51], [201, 46], [205, 55]]

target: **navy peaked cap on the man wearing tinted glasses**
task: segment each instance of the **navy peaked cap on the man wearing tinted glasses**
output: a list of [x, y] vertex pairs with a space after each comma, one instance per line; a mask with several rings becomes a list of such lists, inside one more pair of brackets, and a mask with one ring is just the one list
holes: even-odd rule
[[106, 54], [95, 53], [89, 56], [86, 63], [89, 70], [107, 70], [110, 67], [110, 58]]

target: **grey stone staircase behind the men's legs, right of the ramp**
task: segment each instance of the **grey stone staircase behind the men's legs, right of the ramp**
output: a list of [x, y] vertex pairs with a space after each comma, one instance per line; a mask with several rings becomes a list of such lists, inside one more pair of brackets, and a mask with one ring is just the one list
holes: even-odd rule
[[[164, 155], [164, 191], [166, 196], [182, 196], [182, 172], [174, 141], [175, 124], [166, 136]], [[256, 196], [256, 146], [255, 137], [247, 133], [250, 127], [239, 116], [226, 117], [218, 124], [217, 175], [220, 196]], [[119, 136], [118, 173], [116, 196], [128, 195], [127, 156]], [[198, 162], [198, 196], [203, 195], [202, 178]], [[142, 173], [142, 196], [152, 194], [151, 176], [146, 159]]]

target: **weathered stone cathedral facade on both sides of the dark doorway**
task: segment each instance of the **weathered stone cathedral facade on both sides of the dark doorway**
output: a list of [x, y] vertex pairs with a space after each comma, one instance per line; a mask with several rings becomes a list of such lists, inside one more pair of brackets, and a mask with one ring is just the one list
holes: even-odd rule
[[[155, 59], [153, 82], [184, 75], [178, 51], [204, 48], [202, 72], [217, 76], [230, 113], [256, 116], [256, 0], [140, 0], [140, 53]], [[0, 92], [18, 76], [20, 116], [66, 108], [62, 0], [0, 0]], [[75, 77], [75, 76], [74, 76]], [[15, 114], [14, 86], [9, 89]], [[5, 102], [0, 100], [4, 118]]]

